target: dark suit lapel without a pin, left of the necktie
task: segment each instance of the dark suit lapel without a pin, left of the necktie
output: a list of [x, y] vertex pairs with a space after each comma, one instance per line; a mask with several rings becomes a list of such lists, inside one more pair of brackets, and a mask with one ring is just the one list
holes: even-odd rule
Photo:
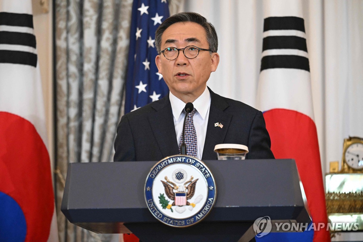
[[169, 94], [152, 102], [151, 107], [156, 112], [149, 114], [149, 122], [163, 157], [179, 154]]

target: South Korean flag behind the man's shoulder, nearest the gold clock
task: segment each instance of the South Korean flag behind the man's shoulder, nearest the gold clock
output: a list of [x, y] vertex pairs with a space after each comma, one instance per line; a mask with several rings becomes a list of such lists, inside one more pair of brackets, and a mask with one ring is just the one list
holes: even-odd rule
[[[265, 0], [257, 108], [276, 159], [295, 159], [315, 224], [327, 223], [305, 32], [307, 1]], [[314, 66], [313, 66], [314, 68]], [[282, 235], [284, 234], [284, 235]], [[265, 238], [265, 237], [264, 237]], [[327, 230], [271, 233], [267, 241], [330, 241]], [[263, 241], [258, 238], [257, 241]]]

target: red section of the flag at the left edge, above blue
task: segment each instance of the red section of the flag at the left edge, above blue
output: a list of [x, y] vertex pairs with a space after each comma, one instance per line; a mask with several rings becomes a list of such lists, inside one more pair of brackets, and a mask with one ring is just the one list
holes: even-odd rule
[[6, 176], [0, 191], [23, 211], [25, 241], [47, 241], [54, 210], [48, 151], [28, 120], [0, 112], [0, 123], [0, 164]]

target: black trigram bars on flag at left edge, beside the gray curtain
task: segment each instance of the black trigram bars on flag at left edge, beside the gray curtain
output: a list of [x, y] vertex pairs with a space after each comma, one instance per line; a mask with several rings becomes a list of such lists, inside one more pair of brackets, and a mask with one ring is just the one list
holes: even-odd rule
[[37, 66], [33, 16], [0, 12], [0, 63]]

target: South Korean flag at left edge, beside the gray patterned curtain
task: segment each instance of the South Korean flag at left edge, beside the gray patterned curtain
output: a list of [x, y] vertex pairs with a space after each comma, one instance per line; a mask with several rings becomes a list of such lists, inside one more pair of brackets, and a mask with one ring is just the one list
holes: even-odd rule
[[58, 241], [30, 0], [0, 0], [0, 241]]

